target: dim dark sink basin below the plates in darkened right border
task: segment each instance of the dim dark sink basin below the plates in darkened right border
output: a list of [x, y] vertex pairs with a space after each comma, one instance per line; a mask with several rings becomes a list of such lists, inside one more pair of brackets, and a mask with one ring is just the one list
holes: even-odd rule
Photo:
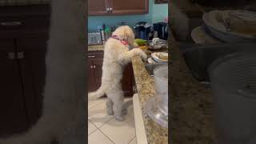
[[226, 54], [254, 50], [256, 42], [223, 43], [218, 45], [197, 45], [180, 43], [180, 51], [191, 74], [199, 82], [210, 82], [208, 67], [214, 60]]

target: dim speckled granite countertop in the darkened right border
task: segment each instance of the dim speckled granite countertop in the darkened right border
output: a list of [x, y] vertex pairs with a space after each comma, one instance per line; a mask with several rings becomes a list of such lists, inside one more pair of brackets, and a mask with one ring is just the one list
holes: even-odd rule
[[174, 35], [170, 67], [170, 143], [213, 144], [216, 141], [211, 90], [193, 78]]

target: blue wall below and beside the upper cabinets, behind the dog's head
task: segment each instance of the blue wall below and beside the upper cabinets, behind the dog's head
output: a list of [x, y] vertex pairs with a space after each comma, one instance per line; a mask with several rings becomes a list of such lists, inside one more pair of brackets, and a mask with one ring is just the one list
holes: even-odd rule
[[149, 14], [140, 15], [120, 15], [120, 16], [90, 16], [88, 17], [88, 31], [97, 31], [97, 26], [117, 26], [118, 22], [127, 22], [129, 26], [134, 26], [137, 22], [162, 22], [168, 15], [167, 4], [154, 4], [150, 0]]

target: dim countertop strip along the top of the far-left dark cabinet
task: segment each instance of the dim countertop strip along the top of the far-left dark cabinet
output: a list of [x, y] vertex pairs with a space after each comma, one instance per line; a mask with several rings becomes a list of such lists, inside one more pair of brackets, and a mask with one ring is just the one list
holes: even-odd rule
[[49, 4], [51, 0], [0, 0], [0, 6], [27, 6]]

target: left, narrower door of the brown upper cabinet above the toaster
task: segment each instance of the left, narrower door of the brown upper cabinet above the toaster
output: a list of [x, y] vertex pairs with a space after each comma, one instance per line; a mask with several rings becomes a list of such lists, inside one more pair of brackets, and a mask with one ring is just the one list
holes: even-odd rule
[[108, 0], [88, 0], [89, 15], [108, 14]]

